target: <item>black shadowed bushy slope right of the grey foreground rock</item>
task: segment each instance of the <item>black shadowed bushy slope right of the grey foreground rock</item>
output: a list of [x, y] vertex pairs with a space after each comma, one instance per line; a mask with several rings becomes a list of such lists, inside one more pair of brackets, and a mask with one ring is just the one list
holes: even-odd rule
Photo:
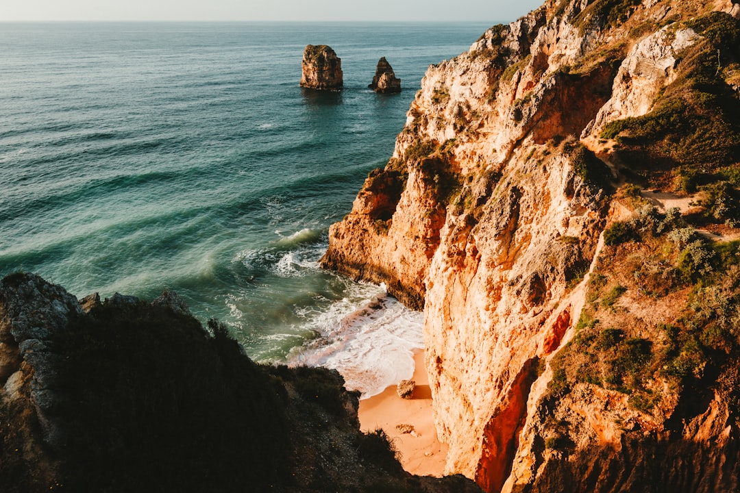
[[97, 307], [58, 334], [67, 490], [236, 492], [280, 477], [285, 396], [223, 324], [209, 327], [141, 303]]

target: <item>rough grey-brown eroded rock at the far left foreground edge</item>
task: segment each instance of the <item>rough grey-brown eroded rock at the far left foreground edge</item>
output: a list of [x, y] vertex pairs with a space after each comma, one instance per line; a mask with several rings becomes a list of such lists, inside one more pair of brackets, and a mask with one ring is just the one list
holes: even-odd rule
[[16, 484], [28, 469], [28, 491], [54, 483], [58, 459], [48, 452], [65, 443], [64, 424], [53, 409], [59, 356], [50, 349], [54, 333], [82, 310], [66, 290], [30, 274], [0, 282], [0, 483]]

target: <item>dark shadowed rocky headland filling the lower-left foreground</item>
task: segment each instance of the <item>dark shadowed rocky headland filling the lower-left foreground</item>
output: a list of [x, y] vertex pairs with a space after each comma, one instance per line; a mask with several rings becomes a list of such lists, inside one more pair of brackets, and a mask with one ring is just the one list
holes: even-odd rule
[[2, 492], [475, 492], [404, 472], [334, 371], [265, 367], [175, 293], [0, 281]]

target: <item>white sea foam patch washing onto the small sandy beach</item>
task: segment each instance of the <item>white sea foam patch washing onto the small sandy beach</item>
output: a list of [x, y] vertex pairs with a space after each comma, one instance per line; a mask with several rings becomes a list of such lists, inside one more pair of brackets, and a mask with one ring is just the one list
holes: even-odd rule
[[380, 288], [361, 302], [343, 299], [309, 326], [320, 334], [300, 348], [291, 364], [337, 370], [362, 398], [414, 374], [414, 350], [423, 347], [423, 314], [408, 310]]

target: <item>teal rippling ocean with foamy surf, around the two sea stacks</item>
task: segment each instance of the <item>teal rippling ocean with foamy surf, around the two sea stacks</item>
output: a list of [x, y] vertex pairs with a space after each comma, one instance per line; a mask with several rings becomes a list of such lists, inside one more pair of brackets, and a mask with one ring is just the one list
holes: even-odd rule
[[[81, 297], [174, 290], [256, 361], [409, 378], [421, 313], [324, 271], [429, 64], [485, 24], [0, 23], [0, 276]], [[306, 44], [345, 89], [300, 89]], [[367, 89], [385, 56], [400, 95]]]

